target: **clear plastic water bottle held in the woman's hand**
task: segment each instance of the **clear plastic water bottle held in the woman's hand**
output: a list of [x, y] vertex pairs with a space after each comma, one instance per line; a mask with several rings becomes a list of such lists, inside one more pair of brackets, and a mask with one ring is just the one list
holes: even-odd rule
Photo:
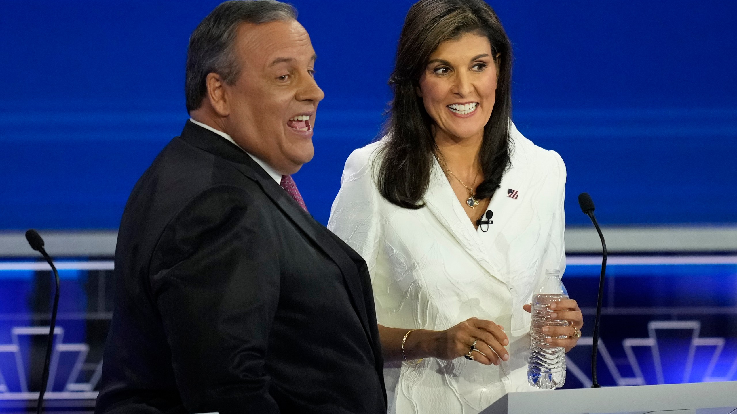
[[[543, 326], [567, 326], [567, 320], [551, 319], [550, 304], [568, 298], [560, 281], [560, 270], [545, 270], [542, 286], [532, 297], [530, 326], [530, 359], [527, 363], [527, 382], [533, 387], [552, 390], [565, 384], [565, 348], [545, 342], [550, 337], [542, 333]], [[564, 337], [561, 337], [564, 338]]]

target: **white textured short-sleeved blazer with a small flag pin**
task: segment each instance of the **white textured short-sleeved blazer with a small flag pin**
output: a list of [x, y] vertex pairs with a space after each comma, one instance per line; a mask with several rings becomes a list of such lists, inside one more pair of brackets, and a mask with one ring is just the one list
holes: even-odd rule
[[[374, 142], [352, 152], [328, 228], [371, 273], [377, 322], [444, 330], [469, 317], [504, 326], [509, 361], [457, 358], [385, 365], [389, 413], [478, 413], [527, 385], [530, 314], [523, 305], [547, 269], [565, 270], [565, 165], [511, 124], [511, 167], [492, 197], [494, 223], [475, 229], [437, 161], [425, 207], [401, 208], [377, 189]], [[509, 197], [509, 190], [518, 193]]]

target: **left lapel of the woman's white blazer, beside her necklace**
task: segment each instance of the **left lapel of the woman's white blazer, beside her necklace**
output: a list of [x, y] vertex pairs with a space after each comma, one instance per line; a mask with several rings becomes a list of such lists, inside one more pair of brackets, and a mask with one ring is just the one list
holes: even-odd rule
[[436, 219], [460, 243], [478, 264], [492, 276], [509, 283], [509, 278], [501, 272], [502, 267], [495, 259], [489, 256], [483, 241], [464, 211], [458, 197], [455, 197], [453, 188], [448, 183], [438, 161], [433, 162], [433, 171], [430, 173], [430, 186], [425, 193], [425, 204]]

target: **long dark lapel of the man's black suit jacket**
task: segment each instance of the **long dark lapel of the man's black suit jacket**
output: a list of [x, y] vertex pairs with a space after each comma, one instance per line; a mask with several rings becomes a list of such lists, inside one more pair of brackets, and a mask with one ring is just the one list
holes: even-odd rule
[[316, 222], [315, 219], [310, 216], [307, 211], [304, 211], [297, 202], [282, 189], [279, 184], [276, 183], [273, 178], [265, 172], [264, 169], [256, 164], [248, 154], [241, 150], [237, 145], [227, 141], [225, 138], [218, 136], [210, 130], [206, 130], [203, 127], [187, 122], [184, 126], [184, 130], [181, 134], [181, 139], [195, 147], [205, 150], [221, 158], [225, 158], [232, 162], [243, 175], [247, 178], [256, 181], [259, 184], [263, 192], [273, 201], [279, 210], [282, 211], [284, 216], [288, 220], [293, 222], [297, 228], [307, 235], [312, 242], [325, 253], [340, 269], [340, 273], [343, 275], [343, 280], [346, 282], [346, 287], [351, 298], [354, 310], [357, 313], [363, 330], [366, 332], [366, 336], [374, 348], [374, 353], [377, 350], [374, 341], [371, 340], [371, 329], [369, 329], [368, 315], [366, 314], [366, 301], [364, 301], [363, 289], [360, 284], [360, 275], [355, 264], [352, 262], [348, 254], [343, 251], [334, 240], [331, 239], [330, 235], [326, 232], [329, 231], [324, 228], [320, 223]]

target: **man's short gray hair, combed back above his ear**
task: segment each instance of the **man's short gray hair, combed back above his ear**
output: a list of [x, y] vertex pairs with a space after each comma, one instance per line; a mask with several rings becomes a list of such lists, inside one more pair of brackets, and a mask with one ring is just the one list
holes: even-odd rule
[[228, 85], [238, 79], [240, 65], [235, 58], [234, 43], [241, 23], [262, 24], [296, 18], [297, 10], [291, 4], [275, 0], [231, 0], [215, 7], [189, 37], [184, 82], [187, 112], [202, 105], [208, 74], [219, 74]]

